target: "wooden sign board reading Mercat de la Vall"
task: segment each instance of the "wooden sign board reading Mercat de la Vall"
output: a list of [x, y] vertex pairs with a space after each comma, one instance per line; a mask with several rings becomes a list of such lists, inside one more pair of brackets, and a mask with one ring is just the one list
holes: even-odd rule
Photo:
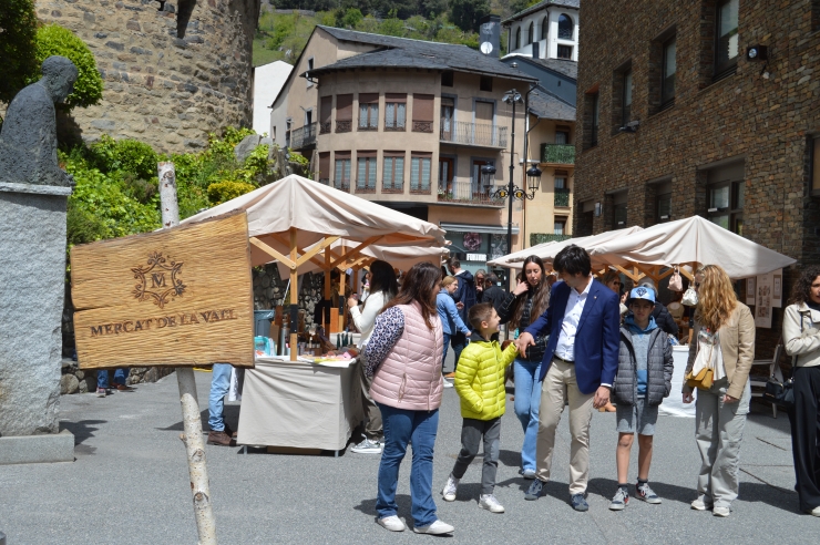
[[254, 366], [247, 215], [75, 246], [81, 369]]

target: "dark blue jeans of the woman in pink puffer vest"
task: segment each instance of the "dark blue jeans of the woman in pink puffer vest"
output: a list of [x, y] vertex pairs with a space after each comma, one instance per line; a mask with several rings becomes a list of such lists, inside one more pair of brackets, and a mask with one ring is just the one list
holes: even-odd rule
[[385, 425], [385, 451], [379, 465], [379, 490], [376, 512], [379, 518], [393, 516], [396, 487], [399, 484], [399, 466], [404, 459], [407, 445], [413, 443], [413, 461], [410, 466], [410, 501], [413, 525], [424, 527], [434, 523], [433, 502], [433, 445], [439, 428], [439, 410], [408, 411], [379, 403]]

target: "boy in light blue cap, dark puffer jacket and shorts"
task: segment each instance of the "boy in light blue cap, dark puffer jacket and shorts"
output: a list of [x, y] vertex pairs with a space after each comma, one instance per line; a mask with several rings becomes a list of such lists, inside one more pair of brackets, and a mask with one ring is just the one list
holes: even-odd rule
[[615, 460], [618, 490], [609, 504], [622, 511], [629, 503], [627, 473], [635, 432], [638, 433], [638, 482], [636, 497], [658, 504], [660, 498], [649, 487], [652, 439], [658, 418], [658, 405], [672, 390], [672, 346], [652, 317], [655, 291], [634, 288], [627, 301], [629, 313], [621, 326], [618, 371], [613, 384], [613, 400], [617, 405], [618, 445]]

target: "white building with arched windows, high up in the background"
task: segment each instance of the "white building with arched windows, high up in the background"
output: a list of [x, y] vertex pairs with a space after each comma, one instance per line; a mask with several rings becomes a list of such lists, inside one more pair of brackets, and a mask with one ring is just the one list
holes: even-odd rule
[[581, 0], [544, 0], [501, 22], [509, 54], [578, 60]]

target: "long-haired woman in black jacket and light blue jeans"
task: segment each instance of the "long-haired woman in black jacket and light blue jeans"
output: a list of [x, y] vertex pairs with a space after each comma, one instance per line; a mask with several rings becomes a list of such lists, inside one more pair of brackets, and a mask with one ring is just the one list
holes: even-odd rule
[[[541, 316], [550, 305], [550, 289], [544, 274], [544, 261], [539, 256], [524, 259], [524, 267], [515, 289], [501, 305], [501, 321], [508, 331], [515, 328], [523, 331], [533, 318]], [[524, 444], [521, 448], [521, 470], [524, 479], [535, 479], [535, 441], [539, 434], [539, 408], [541, 407], [541, 360], [546, 350], [549, 337], [541, 336], [527, 352], [519, 354], [513, 364], [515, 382], [514, 410], [524, 429]]]

